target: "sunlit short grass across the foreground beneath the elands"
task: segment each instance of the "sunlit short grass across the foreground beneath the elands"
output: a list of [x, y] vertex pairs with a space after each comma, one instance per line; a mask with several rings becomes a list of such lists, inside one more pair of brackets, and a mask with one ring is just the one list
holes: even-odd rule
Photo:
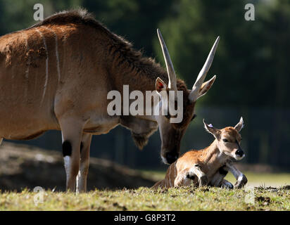
[[[156, 180], [164, 177], [164, 172], [143, 173]], [[0, 193], [0, 210], [290, 210], [290, 186], [285, 186], [290, 184], [289, 174], [245, 174], [249, 186], [258, 186], [239, 190], [138, 188], [82, 194], [44, 191], [43, 203], [37, 205], [34, 199], [39, 200], [39, 193], [25, 189]], [[232, 176], [227, 179], [234, 182]], [[270, 184], [275, 187], [267, 187]]]

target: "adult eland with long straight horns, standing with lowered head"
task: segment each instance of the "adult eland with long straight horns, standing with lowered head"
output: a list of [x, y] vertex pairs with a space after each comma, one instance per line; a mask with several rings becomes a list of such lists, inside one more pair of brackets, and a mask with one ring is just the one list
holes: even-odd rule
[[[0, 38], [0, 137], [33, 139], [49, 129], [61, 130], [67, 189], [85, 191], [89, 146], [93, 134], [106, 134], [121, 124], [142, 148], [160, 129], [161, 156], [174, 162], [184, 131], [194, 118], [196, 100], [215, 76], [204, 82], [219, 38], [192, 89], [176, 78], [158, 30], [167, 72], [151, 58], [110, 32], [84, 10], [52, 15], [25, 30]], [[120, 91], [183, 91], [183, 120], [164, 115], [110, 116], [107, 94]], [[75, 185], [77, 183], [77, 185]]]

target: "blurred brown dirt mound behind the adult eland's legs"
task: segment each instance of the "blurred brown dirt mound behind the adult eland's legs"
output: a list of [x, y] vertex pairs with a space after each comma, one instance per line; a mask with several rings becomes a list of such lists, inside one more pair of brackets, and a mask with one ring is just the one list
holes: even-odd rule
[[[91, 158], [88, 191], [98, 189], [153, 186], [154, 181], [141, 172], [108, 160]], [[0, 146], [0, 189], [21, 191], [41, 186], [65, 191], [65, 169], [61, 153], [31, 146], [4, 142]]]

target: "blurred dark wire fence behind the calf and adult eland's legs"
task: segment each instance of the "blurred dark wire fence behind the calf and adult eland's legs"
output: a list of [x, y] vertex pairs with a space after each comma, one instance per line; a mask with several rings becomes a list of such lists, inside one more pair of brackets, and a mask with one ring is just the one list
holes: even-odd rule
[[[290, 169], [290, 109], [201, 107], [196, 110], [196, 115], [182, 139], [181, 153], [205, 148], [213, 141], [213, 136], [203, 128], [203, 118], [220, 129], [234, 126], [243, 116], [245, 127], [241, 130], [241, 147], [246, 157], [241, 163]], [[61, 151], [60, 131], [48, 131], [38, 139], [15, 142]], [[130, 131], [119, 126], [108, 134], [93, 137], [91, 156], [132, 168], [160, 169], [165, 167], [160, 158], [160, 143], [160, 134], [156, 131], [148, 145], [139, 150], [134, 145]]]

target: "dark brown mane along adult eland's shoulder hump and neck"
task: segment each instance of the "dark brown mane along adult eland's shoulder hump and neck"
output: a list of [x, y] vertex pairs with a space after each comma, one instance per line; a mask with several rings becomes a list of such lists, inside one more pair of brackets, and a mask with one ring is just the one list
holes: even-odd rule
[[[154, 89], [154, 82], [157, 77], [161, 77], [168, 82], [168, 75], [165, 70], [156, 63], [152, 58], [146, 58], [142, 56], [141, 51], [136, 51], [132, 48], [132, 44], [122, 37], [113, 34], [104, 25], [99, 23], [94, 19], [91, 13], [87, 13], [85, 10], [76, 11], [63, 11], [46, 18], [44, 21], [38, 23], [33, 27], [42, 27], [44, 25], [80, 25], [93, 27], [100, 36], [106, 37], [106, 50], [108, 51], [108, 56], [112, 57], [111, 63], [113, 63], [112, 69], [118, 74], [122, 72], [122, 81], [124, 84], [137, 83], [137, 79], [147, 79], [150, 81], [147, 85]], [[153, 80], [153, 83], [151, 82]], [[145, 82], [146, 80], [144, 80]], [[144, 86], [148, 87], [146, 84]]]

